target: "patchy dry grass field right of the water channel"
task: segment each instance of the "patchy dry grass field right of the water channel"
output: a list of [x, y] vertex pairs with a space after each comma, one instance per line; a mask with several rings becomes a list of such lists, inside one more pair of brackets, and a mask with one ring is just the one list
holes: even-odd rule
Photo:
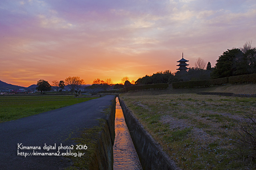
[[245, 113], [252, 114], [256, 98], [191, 93], [120, 97], [180, 168], [256, 168], [256, 160], [243, 157], [236, 143], [237, 125]]

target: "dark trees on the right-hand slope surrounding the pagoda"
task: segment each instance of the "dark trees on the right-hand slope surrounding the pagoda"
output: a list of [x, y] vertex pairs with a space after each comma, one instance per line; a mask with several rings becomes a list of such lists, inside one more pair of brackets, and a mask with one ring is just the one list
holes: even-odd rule
[[139, 78], [135, 84], [172, 83], [180, 81], [210, 80], [230, 76], [256, 73], [256, 47], [252, 42], [246, 42], [242, 48], [233, 48], [219, 56], [214, 67], [202, 58], [196, 59], [195, 67], [186, 72], [156, 72], [151, 76]]

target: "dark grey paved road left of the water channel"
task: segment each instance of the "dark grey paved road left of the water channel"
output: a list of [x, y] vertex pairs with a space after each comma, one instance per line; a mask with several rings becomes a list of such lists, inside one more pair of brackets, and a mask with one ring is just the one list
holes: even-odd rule
[[[106, 118], [103, 110], [111, 105], [115, 96], [104, 96], [87, 102], [62, 107], [37, 115], [24, 117], [15, 121], [0, 123], [0, 169], [60, 169], [70, 165], [68, 158], [63, 156], [18, 156], [20, 147], [41, 147], [35, 152], [47, 152], [44, 145], [70, 146], [81, 128], [98, 125], [96, 119]], [[71, 136], [70, 136], [71, 135]], [[67, 140], [68, 139], [68, 140]], [[90, 146], [88, 146], [89, 148]], [[54, 151], [56, 152], [56, 151]]]

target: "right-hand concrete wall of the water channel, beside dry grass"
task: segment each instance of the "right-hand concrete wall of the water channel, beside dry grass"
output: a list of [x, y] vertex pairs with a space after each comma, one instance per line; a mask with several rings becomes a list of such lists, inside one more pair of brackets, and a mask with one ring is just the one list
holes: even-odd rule
[[126, 125], [144, 170], [180, 170], [120, 98]]

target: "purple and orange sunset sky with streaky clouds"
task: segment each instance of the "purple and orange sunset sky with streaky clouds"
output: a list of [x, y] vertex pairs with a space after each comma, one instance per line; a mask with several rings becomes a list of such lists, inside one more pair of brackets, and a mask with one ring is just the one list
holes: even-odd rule
[[0, 80], [19, 86], [80, 76], [86, 84], [130, 81], [215, 66], [224, 51], [252, 41], [256, 0], [1, 0]]

